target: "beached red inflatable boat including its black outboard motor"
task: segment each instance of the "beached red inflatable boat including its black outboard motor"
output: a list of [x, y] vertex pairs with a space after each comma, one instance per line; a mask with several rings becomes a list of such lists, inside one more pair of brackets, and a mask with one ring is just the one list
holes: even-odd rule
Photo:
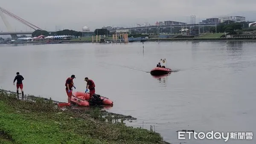
[[[89, 93], [73, 92], [70, 103], [81, 107], [89, 107], [93, 105], [113, 105], [113, 101], [98, 94], [94, 94], [90, 99]], [[59, 103], [59, 107], [70, 106], [68, 103]]]

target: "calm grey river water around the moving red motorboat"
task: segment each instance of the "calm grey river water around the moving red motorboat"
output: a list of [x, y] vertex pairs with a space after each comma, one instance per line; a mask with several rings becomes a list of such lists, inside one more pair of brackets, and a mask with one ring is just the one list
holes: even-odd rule
[[[128, 126], [152, 125], [173, 144], [224, 144], [224, 139], [179, 140], [176, 131], [256, 130], [255, 46], [241, 41], [146, 42], [143, 52], [142, 43], [0, 45], [0, 87], [15, 91], [13, 79], [20, 72], [25, 94], [67, 102], [66, 79], [76, 75], [76, 91], [83, 92], [88, 77], [96, 93], [113, 101], [109, 112], [137, 118]], [[177, 72], [152, 77], [148, 72], [160, 58]]]

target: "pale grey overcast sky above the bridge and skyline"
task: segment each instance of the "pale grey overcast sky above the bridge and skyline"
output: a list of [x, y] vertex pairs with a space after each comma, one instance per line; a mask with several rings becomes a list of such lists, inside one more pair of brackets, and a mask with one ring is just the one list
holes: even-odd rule
[[[236, 12], [254, 11], [256, 0], [1, 0], [1, 7], [46, 29], [74, 29], [88, 26], [135, 26], [137, 23], [175, 20], [190, 23]], [[5, 14], [12, 29], [33, 31]], [[244, 15], [241, 15], [244, 16]], [[0, 20], [0, 31], [7, 31]]]

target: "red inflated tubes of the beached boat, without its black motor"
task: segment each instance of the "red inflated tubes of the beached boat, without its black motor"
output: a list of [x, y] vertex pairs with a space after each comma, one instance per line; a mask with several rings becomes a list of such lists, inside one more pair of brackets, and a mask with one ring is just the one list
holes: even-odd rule
[[[93, 105], [93, 101], [89, 100], [89, 98], [90, 98], [89, 93], [73, 92], [70, 102], [82, 107], [89, 107], [90, 105]], [[111, 101], [106, 97], [100, 96], [100, 99], [101, 101], [99, 104], [101, 105], [113, 105], [113, 101]]]

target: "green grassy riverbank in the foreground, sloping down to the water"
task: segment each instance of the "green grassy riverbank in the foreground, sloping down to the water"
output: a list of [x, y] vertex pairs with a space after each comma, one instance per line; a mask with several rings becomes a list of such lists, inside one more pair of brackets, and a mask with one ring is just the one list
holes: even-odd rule
[[[105, 122], [99, 109], [58, 109], [52, 100], [0, 92], [0, 143], [150, 144], [163, 143], [153, 130]], [[111, 118], [108, 118], [111, 119]]]

